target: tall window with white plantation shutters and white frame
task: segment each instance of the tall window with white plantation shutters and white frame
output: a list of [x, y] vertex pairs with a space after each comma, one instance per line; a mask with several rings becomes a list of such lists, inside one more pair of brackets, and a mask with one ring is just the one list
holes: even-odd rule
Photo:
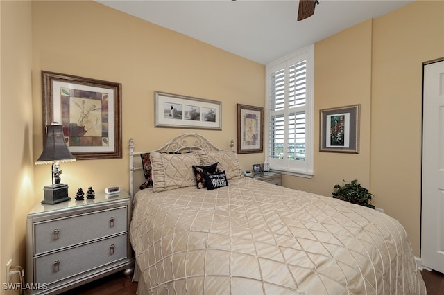
[[266, 65], [265, 158], [274, 170], [313, 175], [314, 45]]

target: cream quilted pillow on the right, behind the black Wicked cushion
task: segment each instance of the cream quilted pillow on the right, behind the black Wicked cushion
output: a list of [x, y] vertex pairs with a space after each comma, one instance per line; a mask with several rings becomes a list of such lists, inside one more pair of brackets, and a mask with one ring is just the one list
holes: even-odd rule
[[208, 152], [205, 150], [197, 151], [202, 165], [208, 166], [212, 163], [221, 163], [222, 170], [225, 171], [227, 179], [237, 179], [241, 177], [241, 167], [237, 154], [229, 150], [219, 150], [217, 152]]

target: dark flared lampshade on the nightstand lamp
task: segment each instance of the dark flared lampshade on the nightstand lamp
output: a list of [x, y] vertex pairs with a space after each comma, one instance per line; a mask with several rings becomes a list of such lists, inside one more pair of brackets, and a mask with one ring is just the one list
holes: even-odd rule
[[65, 143], [62, 125], [47, 125], [46, 130], [46, 143], [42, 154], [35, 163], [49, 164], [76, 161], [76, 158], [69, 152]]

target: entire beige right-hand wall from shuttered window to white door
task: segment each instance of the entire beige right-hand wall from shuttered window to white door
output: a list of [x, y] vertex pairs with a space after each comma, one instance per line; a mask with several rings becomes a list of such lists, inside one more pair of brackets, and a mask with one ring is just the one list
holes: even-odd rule
[[[422, 62], [444, 57], [444, 1], [416, 1], [315, 46], [313, 179], [284, 186], [331, 196], [358, 179], [420, 255]], [[361, 104], [361, 152], [319, 153], [319, 109]]]

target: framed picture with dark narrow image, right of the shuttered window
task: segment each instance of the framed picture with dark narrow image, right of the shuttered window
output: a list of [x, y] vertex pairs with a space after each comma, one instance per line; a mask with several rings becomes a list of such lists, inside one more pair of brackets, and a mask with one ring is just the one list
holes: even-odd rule
[[359, 154], [360, 105], [321, 109], [320, 152]]

